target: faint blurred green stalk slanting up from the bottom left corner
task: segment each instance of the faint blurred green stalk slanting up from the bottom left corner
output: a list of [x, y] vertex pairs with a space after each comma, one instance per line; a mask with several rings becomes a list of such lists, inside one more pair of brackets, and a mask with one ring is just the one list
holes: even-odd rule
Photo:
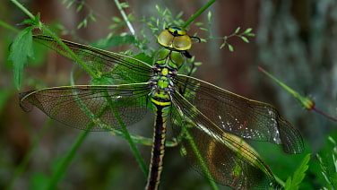
[[33, 151], [35, 151], [36, 147], [38, 146], [42, 136], [46, 133], [48, 127], [51, 124], [51, 119], [48, 119], [48, 121], [42, 126], [41, 130], [39, 131], [39, 134], [37, 137], [34, 139], [34, 142], [30, 146], [30, 150], [28, 153], [24, 156], [22, 161], [20, 162], [19, 166], [15, 168], [13, 178], [11, 181], [7, 184], [7, 186], [4, 188], [5, 190], [11, 190], [13, 189], [13, 185], [15, 182], [18, 180], [20, 176], [22, 176], [22, 172], [25, 168], [27, 168], [27, 165], [31, 159], [31, 156], [33, 154]]

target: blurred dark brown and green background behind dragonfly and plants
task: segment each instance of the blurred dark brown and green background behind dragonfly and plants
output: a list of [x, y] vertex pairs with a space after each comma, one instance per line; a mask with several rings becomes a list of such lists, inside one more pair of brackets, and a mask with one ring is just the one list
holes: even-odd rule
[[[64, 39], [82, 44], [91, 44], [106, 38], [111, 26], [116, 22], [112, 17], [121, 18], [116, 4], [109, 0], [83, 1], [81, 11], [76, 7], [82, 1], [26, 0], [20, 1], [31, 13], [41, 13], [41, 21], [58, 32]], [[168, 8], [173, 15], [184, 13], [183, 19], [200, 9], [205, 0], [139, 1], [129, 0], [126, 13], [134, 15], [134, 29], [141, 36], [146, 28], [143, 19], [158, 17], [155, 5]], [[312, 160], [303, 189], [329, 188], [322, 168], [315, 157], [320, 153], [327, 170], [333, 169], [332, 153], [336, 153], [328, 135], [337, 140], [336, 123], [315, 112], [302, 108], [297, 99], [281, 89], [275, 82], [261, 73], [257, 66], [279, 78], [301, 94], [315, 100], [316, 108], [332, 116], [336, 115], [337, 101], [337, 2], [333, 0], [220, 0], [207, 11], [212, 12], [209, 26], [214, 37], [230, 35], [239, 27], [253, 28], [255, 38], [245, 43], [239, 38], [229, 39], [234, 52], [220, 49], [221, 39], [210, 39], [207, 43], [194, 44], [190, 51], [195, 61], [202, 62], [194, 76], [212, 82], [229, 91], [249, 99], [271, 103], [279, 109], [281, 116], [295, 125], [305, 139], [306, 151], [301, 155], [286, 155], [280, 147], [258, 142], [256, 150], [272, 168], [273, 173], [286, 180], [293, 175], [306, 153], [312, 153]], [[88, 15], [95, 16], [97, 22], [88, 19], [87, 26], [78, 29]], [[16, 29], [25, 26], [20, 22], [28, 19], [10, 1], [0, 2], [0, 21]], [[194, 22], [204, 22], [207, 13]], [[161, 29], [160, 29], [161, 30]], [[128, 32], [126, 28], [120, 31]], [[191, 26], [190, 34], [207, 39], [210, 33]], [[22, 89], [13, 83], [13, 66], [7, 60], [8, 48], [16, 32], [0, 27], [0, 189], [4, 189], [20, 169], [23, 158], [38, 138], [43, 128], [44, 134], [36, 149], [32, 151], [28, 164], [15, 180], [11, 189], [42, 188], [57, 163], [69, 151], [81, 131], [50, 121], [35, 108], [27, 114], [19, 107], [18, 93], [44, 87], [69, 85], [72, 62], [47, 48], [37, 47], [36, 57], [24, 69]], [[141, 37], [142, 38], [142, 37]], [[158, 48], [155, 38], [151, 48]], [[112, 51], [127, 47], [108, 48]], [[137, 52], [134, 52], [137, 53]], [[82, 79], [79, 84], [87, 84]], [[142, 123], [130, 126], [149, 137], [152, 136], [151, 115]], [[169, 128], [168, 128], [169, 130]], [[139, 145], [142, 156], [148, 163], [151, 147]], [[337, 163], [335, 163], [337, 165]], [[66, 169], [58, 183], [58, 189], [143, 189], [146, 183], [141, 168], [137, 165], [129, 145], [108, 133], [91, 133], [81, 145], [80, 151]], [[209, 189], [206, 180], [188, 168], [186, 160], [179, 155], [178, 147], [168, 148], [164, 159], [164, 170], [160, 189]], [[227, 189], [220, 186], [220, 189]]]

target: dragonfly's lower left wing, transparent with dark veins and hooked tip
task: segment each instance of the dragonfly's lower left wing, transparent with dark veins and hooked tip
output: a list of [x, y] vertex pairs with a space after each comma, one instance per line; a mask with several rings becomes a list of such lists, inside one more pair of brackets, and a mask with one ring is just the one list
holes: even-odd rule
[[147, 112], [148, 83], [112, 86], [65, 86], [20, 94], [20, 105], [39, 108], [65, 125], [89, 131], [111, 131], [140, 121]]

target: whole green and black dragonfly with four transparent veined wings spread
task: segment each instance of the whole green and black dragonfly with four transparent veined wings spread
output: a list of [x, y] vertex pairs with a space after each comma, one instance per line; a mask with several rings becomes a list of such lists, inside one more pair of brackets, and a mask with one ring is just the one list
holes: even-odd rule
[[[73, 59], [55, 39], [44, 35], [33, 39]], [[62, 40], [92, 71], [108, 74], [113, 84], [22, 92], [20, 105], [27, 112], [35, 106], [56, 121], [88, 131], [118, 131], [153, 112], [148, 190], [160, 185], [168, 125], [182, 155], [204, 177], [234, 189], [279, 186], [272, 170], [245, 140], [272, 142], [287, 153], [298, 154], [304, 150], [301, 135], [272, 105], [178, 73], [191, 58], [188, 51], [193, 39], [198, 38], [182, 27], [161, 31], [153, 65]]]

